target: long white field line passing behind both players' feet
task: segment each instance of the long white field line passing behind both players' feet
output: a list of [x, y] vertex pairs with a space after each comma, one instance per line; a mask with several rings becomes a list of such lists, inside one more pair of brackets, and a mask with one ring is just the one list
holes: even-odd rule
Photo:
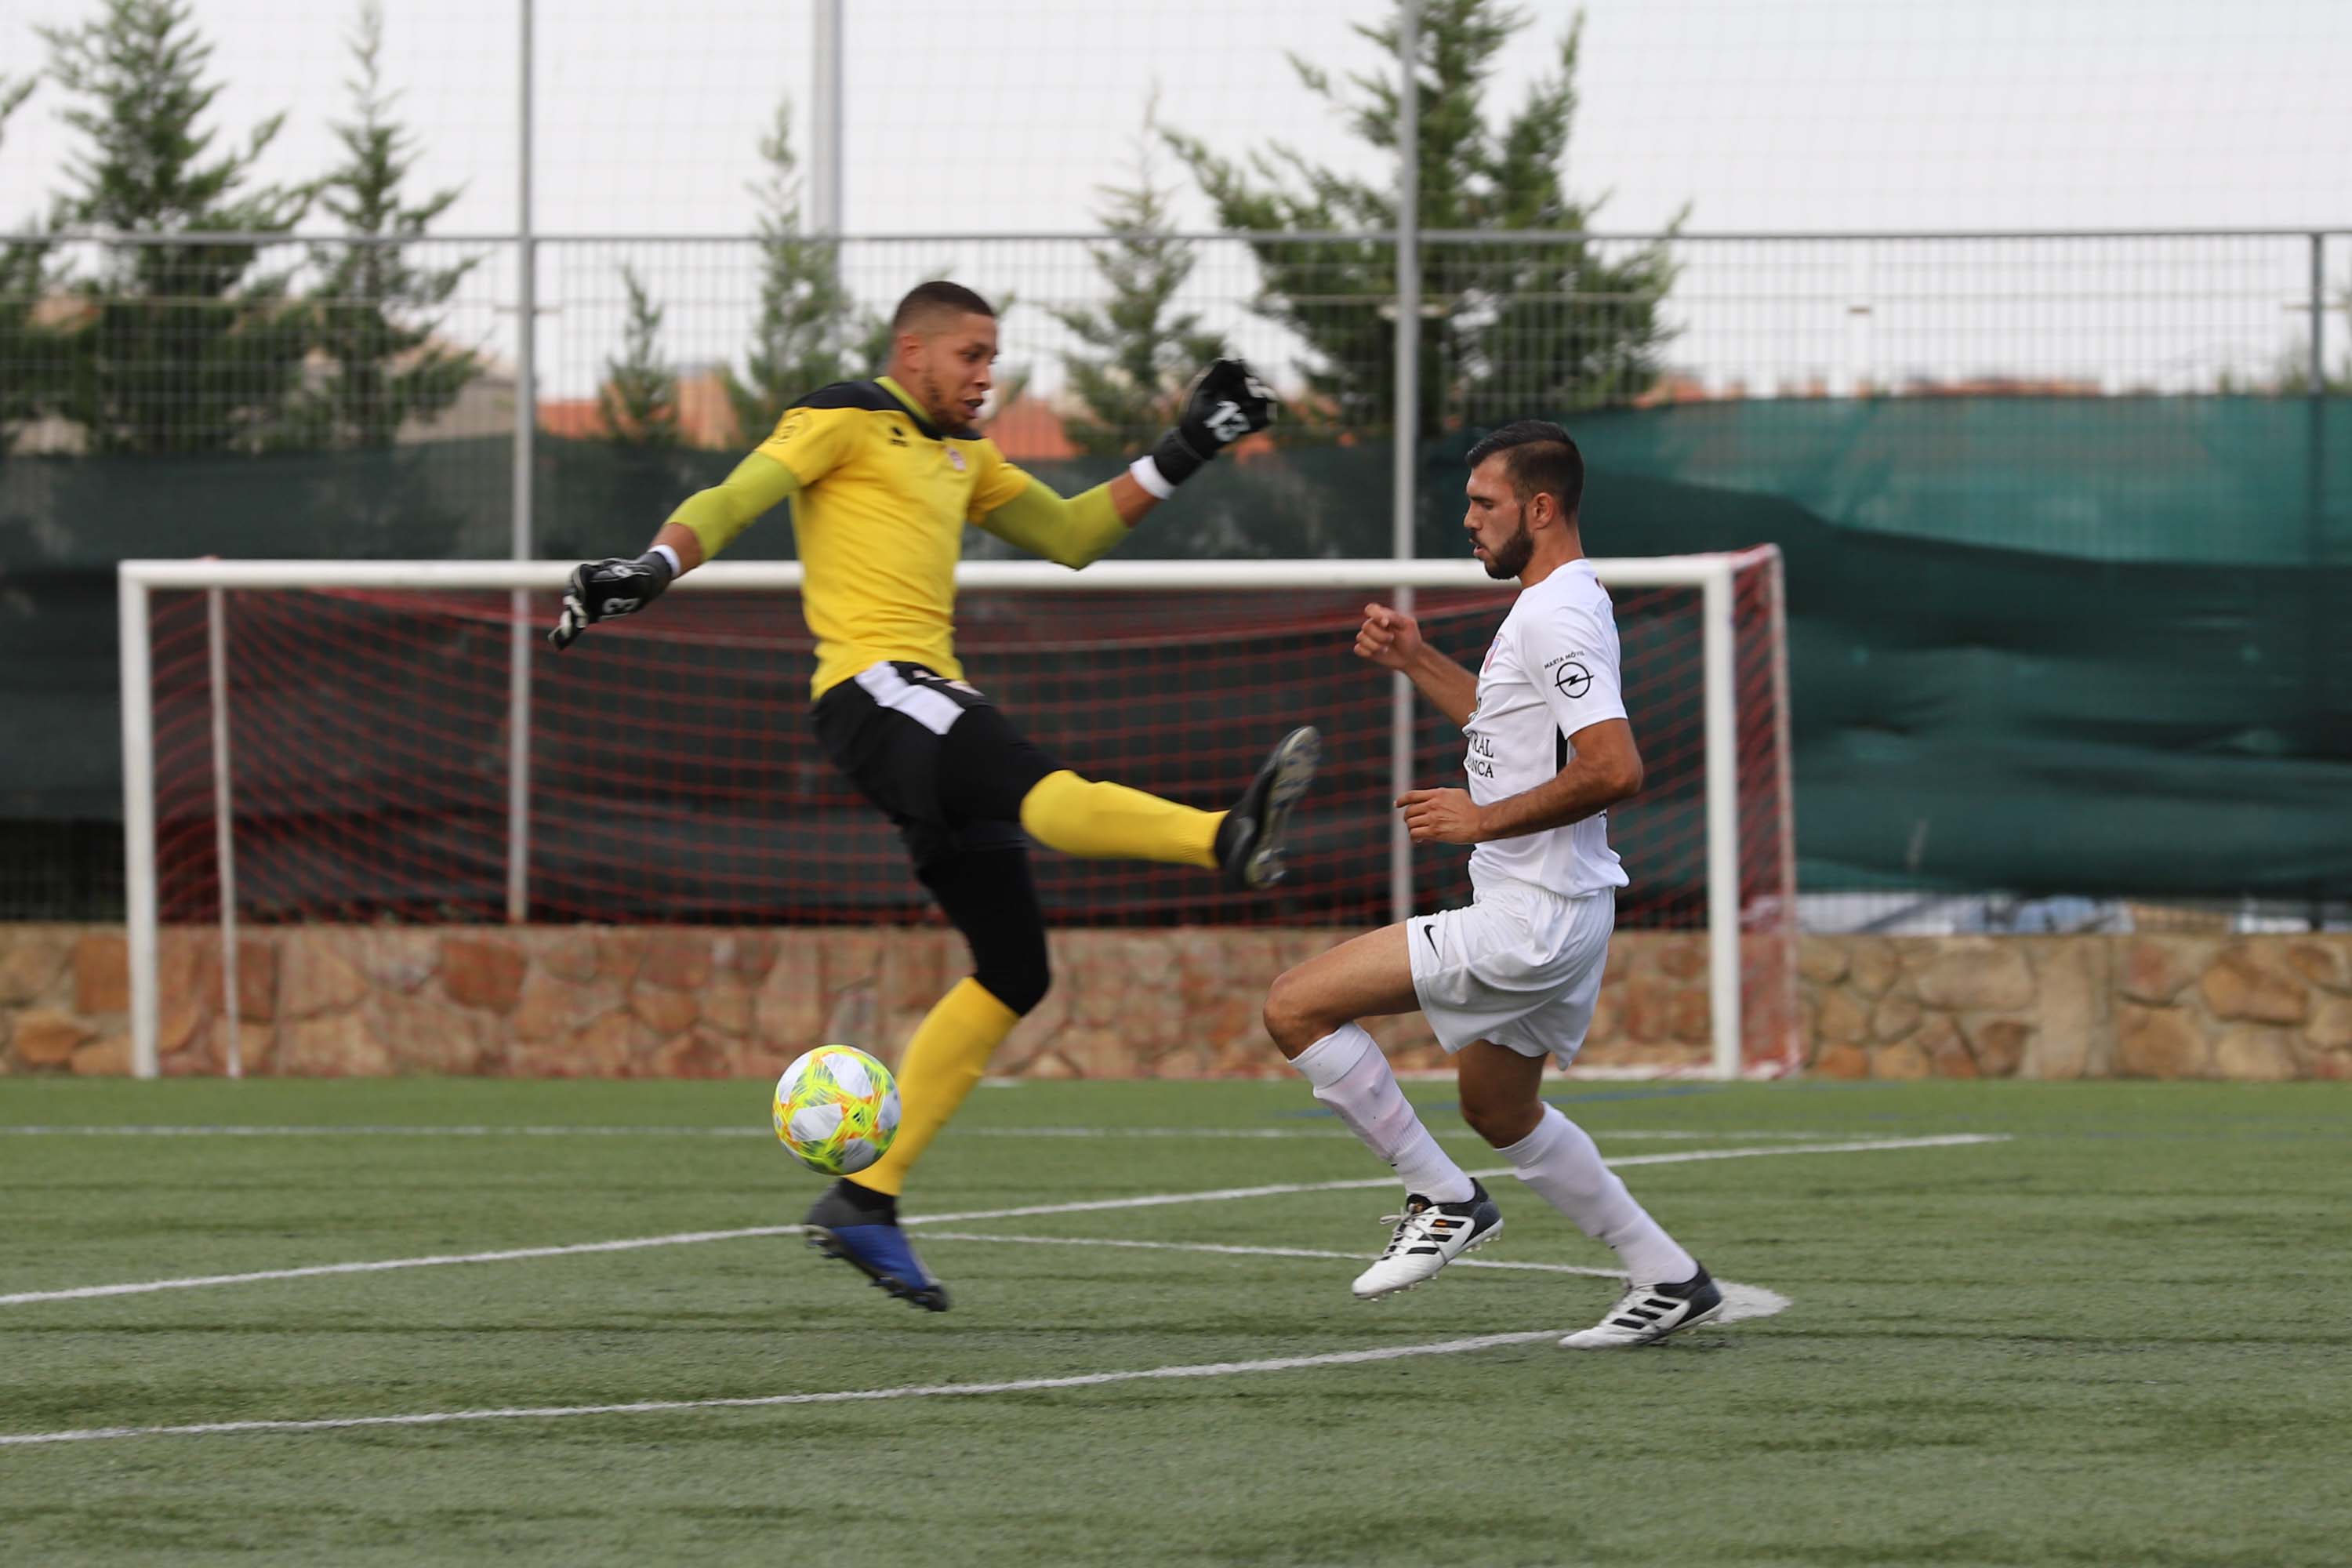
[[[1863, 1154], [1872, 1150], [1931, 1150], [1971, 1143], [2004, 1143], [2006, 1133], [1943, 1133], [1936, 1138], [1865, 1138], [1849, 1143], [1780, 1143], [1748, 1150], [1672, 1150], [1665, 1154], [1628, 1154], [1611, 1166], [1675, 1166], [1712, 1159], [1759, 1159], [1771, 1154]], [[1472, 1175], [1508, 1175], [1508, 1166], [1489, 1166]], [[1124, 1199], [1087, 1199], [1080, 1204], [1023, 1204], [1018, 1208], [967, 1208], [960, 1213], [908, 1215], [906, 1225], [957, 1225], [969, 1220], [1025, 1220], [1051, 1213], [1108, 1213], [1117, 1208], [1164, 1208], [1171, 1204], [1228, 1204], [1235, 1199], [1291, 1197], [1298, 1192], [1362, 1192], [1369, 1187], [1395, 1187], [1395, 1175], [1374, 1175], [1341, 1182], [1272, 1182], [1263, 1187], [1211, 1187], [1207, 1192], [1150, 1192]], [[687, 1229], [666, 1237], [628, 1237], [621, 1241], [574, 1241], [567, 1246], [515, 1246], [489, 1253], [435, 1253], [426, 1258], [374, 1258], [365, 1262], [318, 1262], [296, 1269], [259, 1269], [252, 1274], [195, 1274], [183, 1279], [139, 1279], [106, 1286], [73, 1286], [66, 1291], [19, 1291], [0, 1295], [0, 1307], [24, 1307], [33, 1302], [89, 1300], [99, 1295], [148, 1295], [155, 1291], [195, 1291], [205, 1286], [242, 1286], [270, 1279], [315, 1279], [322, 1274], [383, 1274], [393, 1269], [430, 1269], [456, 1262], [522, 1262], [532, 1258], [569, 1258], [576, 1253], [633, 1253], [649, 1246], [694, 1246], [701, 1241], [746, 1241], [753, 1237], [793, 1237], [800, 1225], [748, 1225], [741, 1229]]]

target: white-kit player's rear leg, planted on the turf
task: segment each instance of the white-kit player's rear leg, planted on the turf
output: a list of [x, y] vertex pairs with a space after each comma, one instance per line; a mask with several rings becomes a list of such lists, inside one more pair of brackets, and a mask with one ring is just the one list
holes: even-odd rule
[[1724, 1293], [1602, 1161], [1585, 1128], [1543, 1103], [1541, 1056], [1472, 1041], [1454, 1058], [1463, 1121], [1503, 1154], [1545, 1204], [1625, 1265], [1628, 1291], [1571, 1349], [1651, 1345], [1722, 1312]]

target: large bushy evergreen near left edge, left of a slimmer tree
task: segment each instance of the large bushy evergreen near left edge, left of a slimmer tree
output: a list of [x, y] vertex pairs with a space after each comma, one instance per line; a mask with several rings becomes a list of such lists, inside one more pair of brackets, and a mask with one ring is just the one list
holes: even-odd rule
[[68, 165], [68, 223], [120, 235], [186, 235], [118, 244], [82, 277], [80, 320], [64, 331], [61, 414], [92, 451], [219, 451], [282, 440], [308, 324], [285, 273], [261, 273], [259, 247], [205, 233], [282, 235], [310, 193], [254, 186], [254, 165], [285, 115], [212, 158], [198, 120], [221, 87], [205, 82], [212, 45], [186, 0], [106, 0], [80, 28], [42, 28], [49, 75], [82, 99], [66, 125], [89, 139]]

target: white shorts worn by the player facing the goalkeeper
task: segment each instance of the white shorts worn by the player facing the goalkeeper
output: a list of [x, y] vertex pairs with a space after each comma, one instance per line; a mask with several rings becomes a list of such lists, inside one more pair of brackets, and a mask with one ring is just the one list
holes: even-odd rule
[[1449, 1053], [1472, 1039], [1576, 1060], [1616, 929], [1616, 891], [1562, 898], [1526, 882], [1479, 889], [1468, 910], [1404, 922], [1414, 994]]

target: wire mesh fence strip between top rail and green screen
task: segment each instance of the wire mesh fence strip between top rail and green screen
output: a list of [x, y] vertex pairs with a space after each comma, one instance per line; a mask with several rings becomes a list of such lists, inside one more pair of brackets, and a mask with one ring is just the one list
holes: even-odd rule
[[[510, 235], [228, 240], [0, 235], [0, 456], [266, 454], [513, 433]], [[1185, 263], [1160, 322], [1167, 336], [1183, 327], [1272, 369], [1301, 433], [1388, 435], [1390, 235], [1150, 242]], [[654, 364], [694, 388], [729, 371], [753, 378], [750, 360], [779, 348], [866, 374], [896, 299], [950, 275], [1004, 313], [995, 414], [1028, 400], [1065, 423], [1103, 423], [1073, 371], [1105, 357], [1082, 322], [1122, 301], [1117, 235], [790, 240], [786, 263], [757, 237], [553, 235], [532, 249], [536, 397], [553, 435], [628, 440], [590, 409], [628, 357], [633, 301], [656, 317]], [[1425, 233], [1421, 259], [1423, 440], [1526, 409], [2293, 397], [2352, 383], [2345, 230]], [[828, 294], [811, 287], [818, 277]], [[823, 320], [764, 327], [771, 287], [826, 303]], [[1110, 421], [1105, 447], [1155, 428]], [[739, 444], [750, 433], [694, 409], [680, 435]]]

